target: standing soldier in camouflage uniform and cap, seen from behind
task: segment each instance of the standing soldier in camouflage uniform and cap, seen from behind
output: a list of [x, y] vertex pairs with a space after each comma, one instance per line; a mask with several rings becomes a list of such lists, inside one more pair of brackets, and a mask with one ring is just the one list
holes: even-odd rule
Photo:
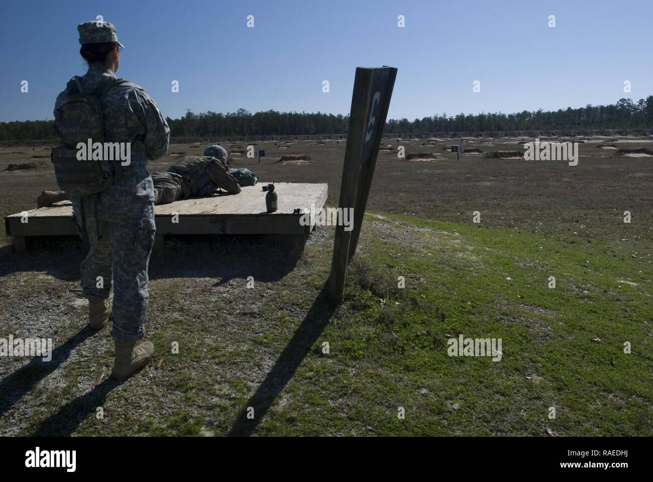
[[[116, 360], [112, 376], [126, 378], [150, 361], [154, 352], [151, 342], [137, 344], [145, 336], [148, 261], [155, 233], [153, 185], [146, 168], [148, 159], [167, 152], [170, 129], [144, 89], [114, 75], [124, 48], [114, 25], [91, 20], [77, 30], [88, 72], [73, 77], [57, 97], [55, 129], [60, 138], [67, 139], [63, 141], [67, 146], [53, 150], [52, 159], [61, 189], [70, 193], [73, 220], [88, 246], [81, 278], [82, 294], [89, 300], [89, 326], [99, 330], [113, 315]], [[93, 110], [88, 110], [93, 105], [89, 93], [97, 99], [97, 121]], [[93, 179], [95, 187], [88, 187], [84, 185], [88, 172], [92, 176], [95, 171], [57, 167], [74, 165], [71, 139], [86, 142], [80, 137], [86, 137], [85, 129], [93, 122], [101, 126], [97, 131], [101, 140], [125, 143], [121, 145], [129, 146], [131, 157], [127, 162], [104, 163], [110, 170], [100, 171], [99, 182]], [[63, 151], [57, 150], [66, 149], [67, 153], [59, 155]], [[109, 298], [112, 282], [113, 304]]]

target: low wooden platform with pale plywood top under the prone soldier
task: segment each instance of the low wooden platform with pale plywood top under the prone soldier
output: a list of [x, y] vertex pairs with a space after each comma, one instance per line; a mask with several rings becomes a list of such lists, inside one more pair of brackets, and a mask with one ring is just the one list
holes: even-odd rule
[[[154, 206], [157, 236], [155, 249], [160, 249], [165, 234], [285, 234], [292, 236], [296, 251], [304, 250], [306, 236], [315, 226], [300, 225], [302, 214], [320, 210], [327, 201], [327, 184], [274, 183], [278, 210], [268, 214], [262, 187], [268, 183], [242, 187], [236, 195], [214, 194]], [[178, 222], [172, 219], [178, 213]], [[72, 203], [61, 201], [46, 208], [5, 217], [5, 232], [13, 236], [14, 248], [24, 250], [29, 236], [64, 236], [78, 234], [72, 222]]]

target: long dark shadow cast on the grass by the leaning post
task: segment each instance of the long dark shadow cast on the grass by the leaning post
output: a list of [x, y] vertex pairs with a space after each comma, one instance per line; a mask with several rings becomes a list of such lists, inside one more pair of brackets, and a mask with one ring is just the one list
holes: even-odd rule
[[[229, 436], [249, 436], [253, 434], [267, 411], [270, 410], [272, 402], [293, 378], [297, 367], [304, 360], [311, 346], [315, 344], [337, 308], [338, 304], [329, 297], [327, 283], [325, 283], [293, 338], [283, 349], [263, 383], [247, 400], [246, 406], [238, 415], [231, 430], [229, 430]], [[248, 407], [254, 409], [254, 419], [247, 419]]]

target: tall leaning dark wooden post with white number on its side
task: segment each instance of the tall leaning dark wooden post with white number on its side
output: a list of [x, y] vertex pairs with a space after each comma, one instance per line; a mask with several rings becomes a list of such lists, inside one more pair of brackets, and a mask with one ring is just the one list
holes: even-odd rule
[[345, 231], [342, 213], [338, 215], [328, 284], [336, 300], [345, 294], [347, 263], [356, 252], [396, 74], [393, 67], [356, 69], [339, 204], [343, 212], [353, 209], [353, 217]]

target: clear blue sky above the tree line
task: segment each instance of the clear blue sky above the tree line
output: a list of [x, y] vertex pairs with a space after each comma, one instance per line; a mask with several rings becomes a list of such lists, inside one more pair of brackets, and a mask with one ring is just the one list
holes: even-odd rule
[[57, 93], [86, 71], [76, 25], [99, 14], [127, 47], [118, 76], [172, 118], [240, 107], [347, 114], [357, 66], [398, 68], [389, 117], [409, 120], [653, 94], [651, 0], [25, 0], [2, 11], [0, 121], [52, 118]]

